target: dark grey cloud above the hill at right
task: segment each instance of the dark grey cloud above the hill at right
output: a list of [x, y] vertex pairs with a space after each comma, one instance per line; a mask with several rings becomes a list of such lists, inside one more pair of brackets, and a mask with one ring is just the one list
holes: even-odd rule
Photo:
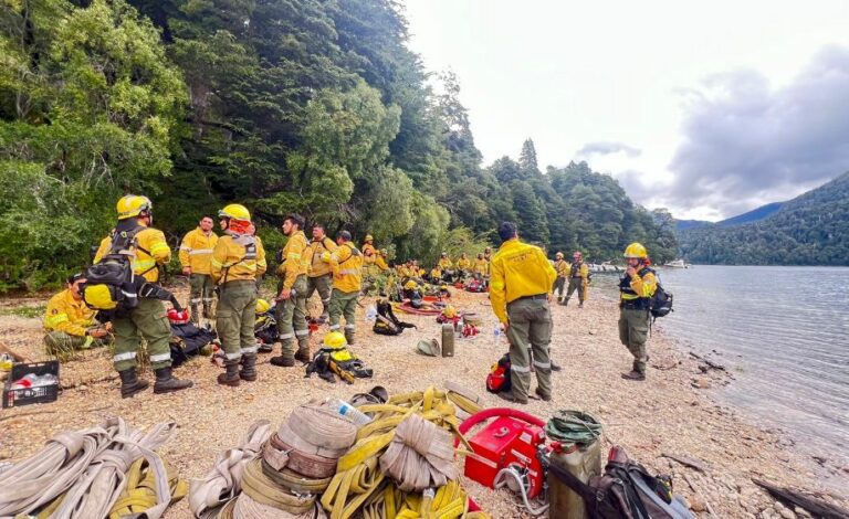
[[780, 88], [742, 70], [685, 94], [671, 205], [727, 216], [849, 170], [849, 47], [822, 49]]

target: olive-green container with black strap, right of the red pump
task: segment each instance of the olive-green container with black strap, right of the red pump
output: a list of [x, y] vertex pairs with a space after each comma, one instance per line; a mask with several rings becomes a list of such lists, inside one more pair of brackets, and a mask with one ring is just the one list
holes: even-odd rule
[[[568, 472], [584, 483], [601, 475], [601, 443], [589, 445], [565, 444], [563, 452], [551, 454], [552, 465]], [[548, 473], [549, 519], [586, 519], [589, 517], [584, 499], [557, 476]]]

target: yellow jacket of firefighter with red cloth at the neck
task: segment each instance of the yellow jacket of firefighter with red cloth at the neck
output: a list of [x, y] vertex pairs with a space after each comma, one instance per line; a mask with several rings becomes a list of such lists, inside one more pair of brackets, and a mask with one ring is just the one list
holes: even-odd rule
[[[249, 246], [255, 251], [249, 253]], [[256, 279], [265, 274], [265, 250], [259, 237], [247, 234], [224, 234], [216, 243], [210, 262], [210, 276], [218, 284], [240, 279]], [[227, 278], [224, 278], [227, 276]]]

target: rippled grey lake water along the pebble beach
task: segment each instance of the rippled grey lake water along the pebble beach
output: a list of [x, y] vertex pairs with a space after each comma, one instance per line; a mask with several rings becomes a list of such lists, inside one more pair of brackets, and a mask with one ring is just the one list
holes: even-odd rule
[[658, 326], [731, 370], [720, 399], [849, 463], [849, 268], [659, 273], [675, 311]]

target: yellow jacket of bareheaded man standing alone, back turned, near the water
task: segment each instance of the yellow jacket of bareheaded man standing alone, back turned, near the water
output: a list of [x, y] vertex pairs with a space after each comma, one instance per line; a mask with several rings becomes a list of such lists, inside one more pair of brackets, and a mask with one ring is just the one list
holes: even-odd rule
[[492, 258], [490, 301], [495, 317], [507, 322], [507, 304], [525, 296], [549, 294], [557, 273], [543, 251], [518, 239], [504, 242]]

